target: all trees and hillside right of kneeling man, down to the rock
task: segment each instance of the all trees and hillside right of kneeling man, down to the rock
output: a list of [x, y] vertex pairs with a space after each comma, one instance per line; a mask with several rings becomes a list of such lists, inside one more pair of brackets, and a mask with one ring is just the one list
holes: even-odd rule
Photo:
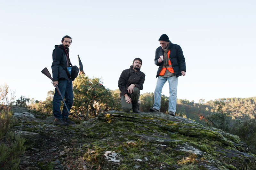
[[[154, 93], [144, 93], [140, 95], [140, 100], [140, 111], [148, 112], [154, 104]], [[161, 97], [161, 112], [168, 110], [168, 101], [168, 97]], [[208, 102], [200, 99], [199, 103], [178, 99], [176, 115], [237, 135], [256, 154], [255, 104], [256, 97], [219, 98]]]

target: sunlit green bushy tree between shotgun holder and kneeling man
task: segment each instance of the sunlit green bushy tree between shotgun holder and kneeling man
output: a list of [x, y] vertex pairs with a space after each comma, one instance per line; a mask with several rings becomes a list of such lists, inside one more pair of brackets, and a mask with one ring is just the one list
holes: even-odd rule
[[100, 78], [90, 79], [84, 74], [73, 81], [73, 114], [89, 119], [89, 117], [98, 116], [100, 112], [116, 107], [111, 91], [101, 83]]

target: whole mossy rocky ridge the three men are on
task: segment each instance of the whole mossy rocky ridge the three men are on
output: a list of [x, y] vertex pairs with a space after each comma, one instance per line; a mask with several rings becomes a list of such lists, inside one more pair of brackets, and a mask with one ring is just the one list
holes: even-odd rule
[[68, 127], [44, 113], [13, 112], [12, 131], [27, 140], [21, 169], [256, 169], [238, 136], [162, 112], [108, 111]]

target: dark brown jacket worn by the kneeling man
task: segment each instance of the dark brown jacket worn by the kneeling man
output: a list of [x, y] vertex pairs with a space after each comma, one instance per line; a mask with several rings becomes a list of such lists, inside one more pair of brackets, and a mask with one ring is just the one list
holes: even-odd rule
[[121, 73], [118, 80], [118, 88], [121, 91], [120, 97], [128, 93], [126, 89], [128, 89], [131, 84], [134, 84], [138, 89], [142, 90], [144, 81], [145, 74], [141, 72], [140, 69], [135, 72], [133, 66], [130, 66], [129, 69], [126, 69]]

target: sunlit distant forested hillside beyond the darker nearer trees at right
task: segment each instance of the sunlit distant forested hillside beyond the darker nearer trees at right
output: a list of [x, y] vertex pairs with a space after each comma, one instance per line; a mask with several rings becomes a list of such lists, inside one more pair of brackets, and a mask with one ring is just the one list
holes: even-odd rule
[[[149, 107], [154, 104], [154, 93], [144, 93], [140, 95], [141, 100], [141, 112], [148, 112]], [[219, 98], [214, 101], [221, 101], [224, 104], [221, 106], [223, 112], [230, 113], [232, 120], [245, 118], [253, 118], [256, 113], [256, 97], [249, 98]], [[217, 112], [219, 104], [215, 104], [213, 100], [205, 102], [204, 99], [200, 99], [199, 103], [191, 102], [187, 99], [177, 100], [177, 114], [186, 115], [187, 119], [194, 120], [198, 123], [204, 124], [204, 117], [211, 113]], [[161, 97], [161, 109], [160, 112], [167, 113], [169, 97], [162, 95]]]

